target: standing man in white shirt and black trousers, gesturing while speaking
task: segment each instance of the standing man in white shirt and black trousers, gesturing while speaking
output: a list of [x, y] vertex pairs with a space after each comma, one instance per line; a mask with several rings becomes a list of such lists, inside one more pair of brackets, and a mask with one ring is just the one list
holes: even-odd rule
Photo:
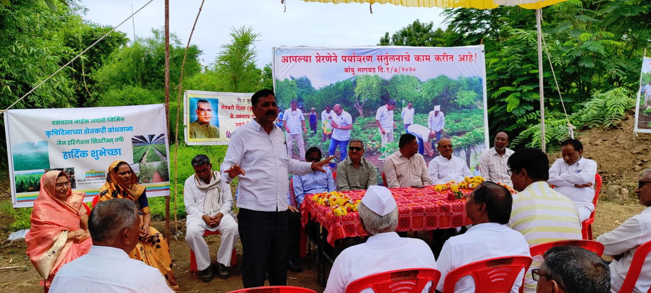
[[230, 182], [238, 175], [238, 230], [242, 240], [244, 288], [287, 283], [287, 217], [289, 173], [325, 172], [332, 158], [310, 163], [288, 158], [284, 137], [273, 124], [276, 97], [263, 89], [251, 96], [255, 119], [240, 126], [230, 137], [221, 164]]

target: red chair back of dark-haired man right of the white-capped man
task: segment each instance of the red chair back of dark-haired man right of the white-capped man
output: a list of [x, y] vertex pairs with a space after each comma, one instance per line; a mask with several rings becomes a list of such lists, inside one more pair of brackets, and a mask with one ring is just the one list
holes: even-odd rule
[[456, 282], [465, 275], [475, 279], [475, 292], [510, 292], [518, 274], [531, 266], [531, 257], [496, 257], [460, 266], [445, 277], [443, 293], [453, 293]]

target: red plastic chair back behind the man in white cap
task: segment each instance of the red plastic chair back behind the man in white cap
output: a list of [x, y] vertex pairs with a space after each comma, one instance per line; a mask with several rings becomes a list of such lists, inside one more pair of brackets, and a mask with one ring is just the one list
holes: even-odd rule
[[432, 281], [432, 293], [441, 278], [441, 272], [432, 268], [413, 268], [376, 273], [357, 279], [346, 287], [346, 293], [359, 293], [372, 288], [376, 293], [420, 293]]

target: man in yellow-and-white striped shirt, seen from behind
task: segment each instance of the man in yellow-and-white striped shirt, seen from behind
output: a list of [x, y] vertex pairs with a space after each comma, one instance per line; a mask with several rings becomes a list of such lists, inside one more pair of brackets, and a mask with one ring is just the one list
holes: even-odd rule
[[[549, 159], [537, 148], [525, 148], [514, 152], [507, 163], [513, 188], [511, 219], [508, 225], [521, 232], [529, 246], [559, 240], [581, 239], [581, 221], [574, 202], [551, 189]], [[542, 257], [534, 261], [525, 276], [525, 292], [536, 292], [536, 282], [531, 270], [538, 268]]]

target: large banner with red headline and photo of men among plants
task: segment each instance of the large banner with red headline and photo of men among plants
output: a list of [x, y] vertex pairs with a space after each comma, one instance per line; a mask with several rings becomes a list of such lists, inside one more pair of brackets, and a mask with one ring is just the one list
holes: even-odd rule
[[[426, 162], [439, 156], [437, 141], [449, 138], [454, 156], [475, 170], [488, 146], [483, 46], [273, 52], [279, 119], [293, 158], [318, 146], [324, 155], [344, 160], [348, 142], [361, 139], [364, 157], [382, 165], [398, 150], [400, 135], [411, 133]], [[297, 114], [301, 119], [294, 119]], [[307, 132], [300, 131], [303, 123]]]

